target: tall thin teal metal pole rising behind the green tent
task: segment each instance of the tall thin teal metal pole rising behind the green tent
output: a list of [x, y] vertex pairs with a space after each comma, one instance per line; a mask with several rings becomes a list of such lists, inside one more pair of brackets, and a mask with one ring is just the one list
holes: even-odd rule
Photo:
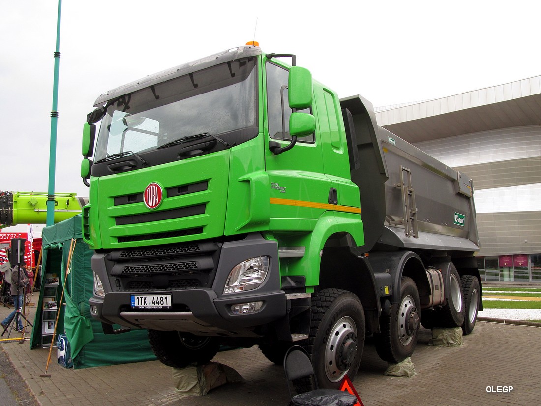
[[60, 14], [62, 0], [58, 0], [56, 22], [55, 73], [52, 84], [51, 145], [49, 152], [49, 193], [47, 195], [47, 225], [55, 224], [55, 169], [56, 169], [56, 129], [58, 125], [58, 69], [60, 68]]

